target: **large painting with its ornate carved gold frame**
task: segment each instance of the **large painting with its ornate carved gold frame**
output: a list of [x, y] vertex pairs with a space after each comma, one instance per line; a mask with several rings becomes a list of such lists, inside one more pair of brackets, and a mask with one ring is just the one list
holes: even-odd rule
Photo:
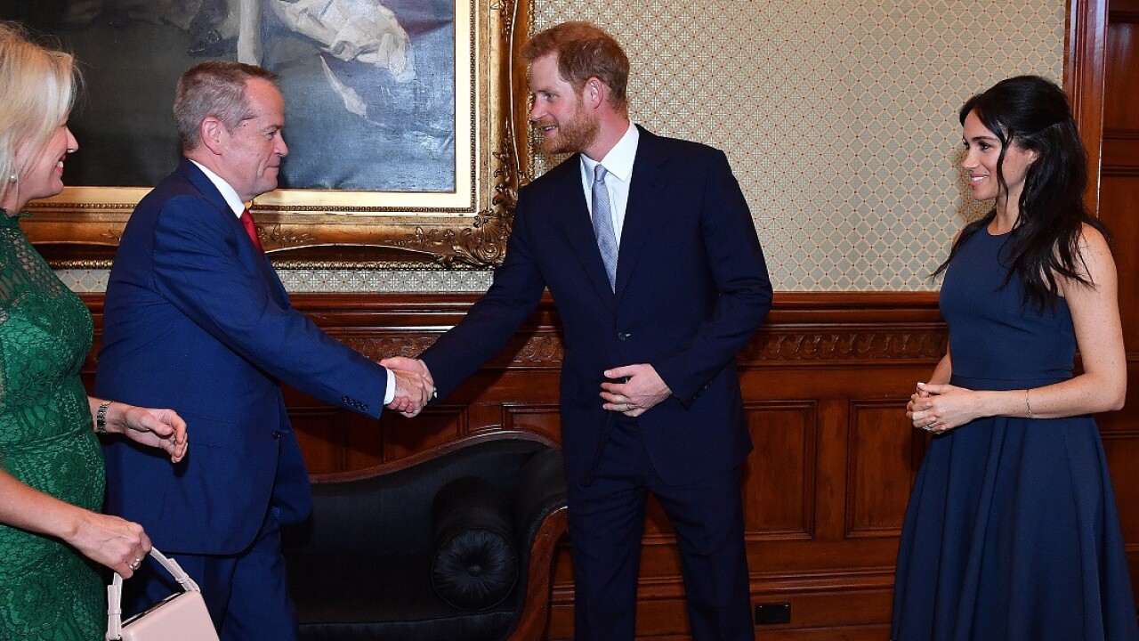
[[[516, 0], [0, 0], [74, 51], [87, 88], [66, 187], [28, 238], [57, 268], [109, 266], [177, 164], [178, 78], [206, 59], [276, 72], [290, 147], [249, 208], [279, 267], [498, 263], [519, 180]], [[519, 103], [521, 100], [521, 103]]]

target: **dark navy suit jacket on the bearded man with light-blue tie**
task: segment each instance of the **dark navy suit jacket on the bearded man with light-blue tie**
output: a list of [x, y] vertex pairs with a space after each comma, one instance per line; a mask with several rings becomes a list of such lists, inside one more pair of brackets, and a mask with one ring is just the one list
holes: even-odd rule
[[755, 225], [724, 154], [640, 130], [609, 287], [574, 155], [518, 194], [494, 283], [421, 357], [440, 396], [505, 347], [549, 289], [565, 330], [562, 444], [587, 484], [616, 416], [605, 370], [648, 363], [672, 396], [639, 419], [657, 473], [689, 482], [738, 465], [752, 443], [736, 354], [771, 307]]

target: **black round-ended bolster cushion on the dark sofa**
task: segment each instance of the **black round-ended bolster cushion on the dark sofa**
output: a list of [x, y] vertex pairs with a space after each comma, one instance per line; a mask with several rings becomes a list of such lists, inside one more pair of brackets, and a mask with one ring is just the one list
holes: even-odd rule
[[491, 608], [518, 578], [514, 524], [503, 493], [467, 476], [440, 488], [432, 502], [432, 587], [465, 610]]

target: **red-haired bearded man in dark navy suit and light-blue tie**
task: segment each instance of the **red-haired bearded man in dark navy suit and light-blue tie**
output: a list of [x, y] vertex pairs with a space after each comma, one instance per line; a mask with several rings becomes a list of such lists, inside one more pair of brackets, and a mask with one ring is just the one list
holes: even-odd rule
[[575, 155], [521, 190], [506, 259], [466, 318], [419, 360], [383, 363], [446, 395], [549, 289], [565, 330], [574, 638], [633, 638], [652, 493], [677, 534], [693, 638], [753, 639], [735, 356], [771, 284], [747, 203], [722, 152], [630, 122], [629, 60], [601, 30], [560, 24], [524, 55], [542, 149]]

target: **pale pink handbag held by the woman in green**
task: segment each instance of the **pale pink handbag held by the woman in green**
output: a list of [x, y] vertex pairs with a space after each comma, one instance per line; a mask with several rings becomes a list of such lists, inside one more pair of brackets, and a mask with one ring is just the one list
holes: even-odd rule
[[107, 641], [218, 641], [218, 631], [198, 584], [162, 552], [151, 547], [150, 555], [186, 592], [171, 594], [124, 622], [121, 606], [123, 577], [115, 573], [115, 578], [107, 586]]

